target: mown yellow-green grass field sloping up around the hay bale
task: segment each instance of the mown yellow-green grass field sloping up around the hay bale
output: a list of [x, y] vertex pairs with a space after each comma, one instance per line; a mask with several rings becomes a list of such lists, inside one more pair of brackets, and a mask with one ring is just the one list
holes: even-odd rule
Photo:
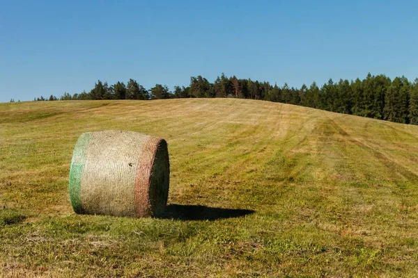
[[[84, 131], [165, 138], [167, 217], [76, 215]], [[240, 99], [0, 104], [0, 277], [417, 277], [418, 126]]]

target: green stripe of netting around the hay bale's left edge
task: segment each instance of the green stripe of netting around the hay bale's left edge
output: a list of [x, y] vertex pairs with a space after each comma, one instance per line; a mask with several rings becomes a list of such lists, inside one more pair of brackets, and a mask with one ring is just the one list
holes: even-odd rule
[[70, 166], [70, 202], [76, 213], [83, 213], [82, 206], [82, 175], [88, 145], [90, 145], [91, 133], [83, 133], [77, 140], [74, 152], [72, 154]]

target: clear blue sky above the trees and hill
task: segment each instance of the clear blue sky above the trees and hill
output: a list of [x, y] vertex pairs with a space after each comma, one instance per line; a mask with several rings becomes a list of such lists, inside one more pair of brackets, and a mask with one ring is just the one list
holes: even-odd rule
[[2, 1], [0, 101], [136, 79], [418, 76], [418, 1]]

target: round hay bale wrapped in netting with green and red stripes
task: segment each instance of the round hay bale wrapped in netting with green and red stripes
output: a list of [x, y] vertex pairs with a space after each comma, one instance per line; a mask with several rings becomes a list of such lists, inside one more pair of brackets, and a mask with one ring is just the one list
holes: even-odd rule
[[169, 195], [167, 142], [132, 131], [87, 132], [75, 145], [70, 201], [76, 213], [144, 217]]

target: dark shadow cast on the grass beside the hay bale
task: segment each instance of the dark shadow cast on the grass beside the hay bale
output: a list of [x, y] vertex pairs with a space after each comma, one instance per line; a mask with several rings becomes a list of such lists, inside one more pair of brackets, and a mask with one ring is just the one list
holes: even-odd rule
[[212, 208], [209, 206], [169, 204], [156, 218], [174, 220], [218, 220], [239, 218], [254, 213], [249, 209]]

